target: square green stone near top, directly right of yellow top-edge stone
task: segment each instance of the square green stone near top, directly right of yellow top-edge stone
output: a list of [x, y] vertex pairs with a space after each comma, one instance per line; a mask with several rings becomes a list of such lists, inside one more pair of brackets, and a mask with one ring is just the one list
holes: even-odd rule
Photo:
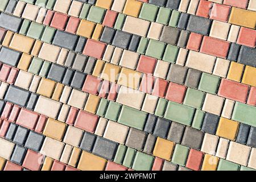
[[154, 22], [156, 15], [158, 14], [158, 6], [143, 3], [139, 18]]

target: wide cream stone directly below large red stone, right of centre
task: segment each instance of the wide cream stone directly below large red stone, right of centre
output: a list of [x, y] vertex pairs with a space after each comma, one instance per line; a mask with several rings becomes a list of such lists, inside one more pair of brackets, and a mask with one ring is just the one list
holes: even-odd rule
[[201, 52], [189, 51], [186, 67], [212, 73], [216, 57]]

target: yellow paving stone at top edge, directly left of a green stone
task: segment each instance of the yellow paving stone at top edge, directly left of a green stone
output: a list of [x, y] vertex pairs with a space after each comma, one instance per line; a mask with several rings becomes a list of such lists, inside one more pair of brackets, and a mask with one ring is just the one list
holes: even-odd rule
[[123, 9], [123, 14], [138, 17], [141, 11], [142, 2], [135, 0], [127, 0], [125, 3], [125, 8]]

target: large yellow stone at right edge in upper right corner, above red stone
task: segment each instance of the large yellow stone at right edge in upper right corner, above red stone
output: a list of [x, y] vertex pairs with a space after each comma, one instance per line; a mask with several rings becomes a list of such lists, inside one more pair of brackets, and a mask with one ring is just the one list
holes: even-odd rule
[[242, 27], [255, 28], [256, 12], [232, 7], [229, 15], [229, 23], [237, 24]]

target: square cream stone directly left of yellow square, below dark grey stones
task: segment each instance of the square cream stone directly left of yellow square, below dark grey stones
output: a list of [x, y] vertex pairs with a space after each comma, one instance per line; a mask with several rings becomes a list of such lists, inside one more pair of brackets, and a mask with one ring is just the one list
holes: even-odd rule
[[87, 93], [73, 89], [68, 100], [68, 105], [77, 107], [79, 109], [84, 109], [84, 105], [87, 97], [88, 97]]

